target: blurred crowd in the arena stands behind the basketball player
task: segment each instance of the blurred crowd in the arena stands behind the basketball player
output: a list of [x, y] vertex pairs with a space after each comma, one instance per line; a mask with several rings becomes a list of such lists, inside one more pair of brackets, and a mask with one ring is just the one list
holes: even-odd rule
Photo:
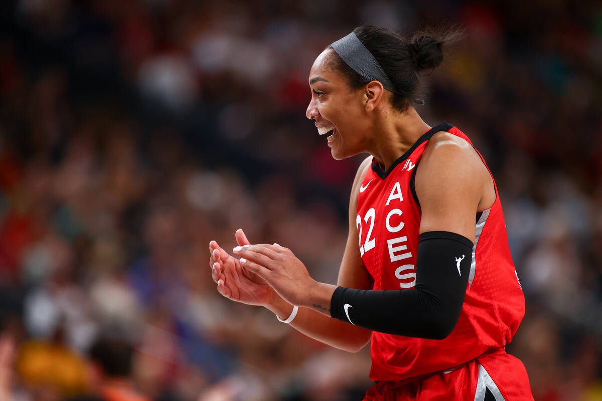
[[309, 67], [362, 23], [467, 37], [427, 123], [485, 155], [538, 401], [602, 400], [602, 4], [4, 0], [0, 398], [359, 400], [347, 354], [219, 296], [208, 243], [278, 241], [335, 283], [364, 158], [305, 118]]

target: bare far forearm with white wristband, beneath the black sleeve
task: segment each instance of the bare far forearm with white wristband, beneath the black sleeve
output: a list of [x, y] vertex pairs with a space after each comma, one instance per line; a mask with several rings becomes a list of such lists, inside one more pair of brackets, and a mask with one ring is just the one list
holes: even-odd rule
[[[297, 316], [289, 325], [314, 340], [349, 352], [358, 352], [370, 341], [370, 330], [330, 317], [330, 299], [322, 304], [326, 305], [323, 313], [313, 308], [300, 307]], [[293, 310], [293, 305], [284, 301], [278, 294], [275, 294], [270, 304], [265, 307], [283, 320], [287, 319]]]

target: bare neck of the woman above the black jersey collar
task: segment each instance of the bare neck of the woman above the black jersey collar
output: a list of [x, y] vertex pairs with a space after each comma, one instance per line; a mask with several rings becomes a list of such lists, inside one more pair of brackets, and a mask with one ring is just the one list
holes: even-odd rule
[[[393, 114], [393, 115], [392, 115]], [[388, 170], [409, 148], [430, 129], [413, 107], [404, 112], [383, 112], [374, 126], [370, 150], [383, 171]]]

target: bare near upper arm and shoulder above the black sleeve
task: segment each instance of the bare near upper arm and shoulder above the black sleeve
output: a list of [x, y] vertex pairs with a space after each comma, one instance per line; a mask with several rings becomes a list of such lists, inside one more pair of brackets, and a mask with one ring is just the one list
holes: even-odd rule
[[490, 178], [467, 141], [447, 132], [433, 135], [416, 171], [420, 233], [450, 231], [474, 242], [475, 217]]

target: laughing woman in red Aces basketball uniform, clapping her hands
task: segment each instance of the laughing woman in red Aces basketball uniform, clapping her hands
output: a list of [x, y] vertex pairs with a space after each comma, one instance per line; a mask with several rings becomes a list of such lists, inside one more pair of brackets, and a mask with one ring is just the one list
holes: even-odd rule
[[235, 257], [212, 241], [219, 292], [263, 305], [309, 337], [357, 351], [371, 340], [365, 400], [531, 400], [504, 346], [524, 316], [503, 212], [482, 156], [456, 127], [427, 125], [411, 100], [453, 32], [406, 40], [374, 26], [332, 43], [309, 73], [315, 120], [335, 159], [358, 153], [338, 286], [278, 244]]

